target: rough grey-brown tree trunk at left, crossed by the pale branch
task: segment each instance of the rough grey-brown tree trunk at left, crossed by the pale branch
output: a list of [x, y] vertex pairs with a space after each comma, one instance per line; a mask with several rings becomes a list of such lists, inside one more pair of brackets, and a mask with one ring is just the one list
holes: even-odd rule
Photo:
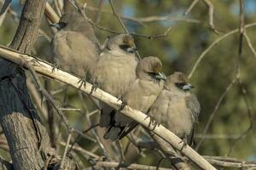
[[[30, 53], [38, 37], [44, 7], [44, 0], [26, 0], [10, 48]], [[0, 65], [0, 123], [13, 166], [15, 169], [41, 169], [50, 152], [49, 136], [27, 93], [25, 72], [5, 59], [0, 59]]]

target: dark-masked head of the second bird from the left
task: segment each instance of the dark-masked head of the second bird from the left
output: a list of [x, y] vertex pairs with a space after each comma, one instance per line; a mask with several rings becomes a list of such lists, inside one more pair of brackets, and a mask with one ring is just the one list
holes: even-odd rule
[[109, 38], [107, 48], [128, 54], [134, 54], [137, 50], [134, 39], [128, 34], [119, 34], [118, 36]]

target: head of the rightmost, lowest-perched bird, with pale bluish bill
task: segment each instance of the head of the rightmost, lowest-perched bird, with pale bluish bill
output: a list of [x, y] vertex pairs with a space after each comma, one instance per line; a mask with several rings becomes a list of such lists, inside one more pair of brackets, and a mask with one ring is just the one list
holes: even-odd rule
[[183, 72], [174, 72], [172, 75], [166, 79], [166, 88], [178, 88], [183, 91], [189, 91], [191, 88], [194, 88], [189, 83], [189, 78], [186, 77]]

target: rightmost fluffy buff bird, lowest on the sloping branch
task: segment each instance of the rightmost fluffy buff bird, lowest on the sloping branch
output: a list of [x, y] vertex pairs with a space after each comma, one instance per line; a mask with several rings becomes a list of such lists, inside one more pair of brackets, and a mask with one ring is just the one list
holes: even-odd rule
[[189, 89], [193, 86], [182, 72], [166, 78], [164, 89], [149, 109], [149, 116], [183, 139], [193, 144], [194, 126], [201, 111], [200, 104]]

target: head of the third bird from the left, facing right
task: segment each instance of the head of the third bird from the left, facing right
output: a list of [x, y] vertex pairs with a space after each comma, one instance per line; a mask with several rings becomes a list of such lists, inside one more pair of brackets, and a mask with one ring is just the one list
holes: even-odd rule
[[161, 72], [162, 63], [157, 57], [149, 56], [140, 60], [137, 64], [137, 77], [149, 81], [166, 80], [166, 75]]

